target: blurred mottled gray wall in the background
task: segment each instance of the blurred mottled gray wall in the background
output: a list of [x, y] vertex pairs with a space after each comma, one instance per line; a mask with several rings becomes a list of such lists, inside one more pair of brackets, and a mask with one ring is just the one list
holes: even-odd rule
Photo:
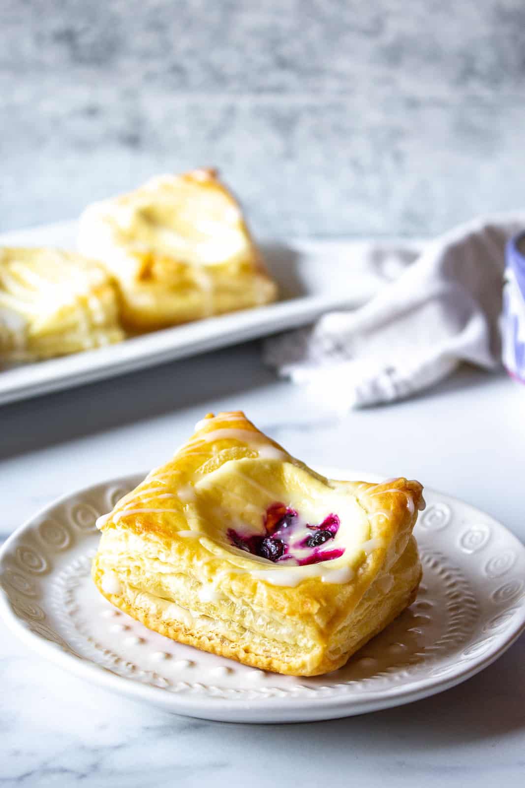
[[0, 227], [218, 165], [261, 236], [523, 205], [523, 0], [0, 0]]

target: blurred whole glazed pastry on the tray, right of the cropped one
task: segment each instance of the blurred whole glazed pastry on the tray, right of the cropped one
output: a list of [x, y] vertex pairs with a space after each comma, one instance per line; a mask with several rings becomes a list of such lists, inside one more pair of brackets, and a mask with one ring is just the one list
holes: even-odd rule
[[155, 177], [88, 206], [79, 249], [116, 277], [122, 319], [134, 331], [255, 307], [277, 292], [213, 169]]

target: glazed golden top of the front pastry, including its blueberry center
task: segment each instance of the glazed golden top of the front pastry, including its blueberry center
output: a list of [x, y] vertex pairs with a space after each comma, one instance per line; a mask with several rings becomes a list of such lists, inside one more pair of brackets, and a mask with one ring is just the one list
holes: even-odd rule
[[418, 482], [405, 479], [328, 480], [235, 411], [198, 422], [172, 461], [98, 526], [125, 530], [130, 540], [150, 534], [168, 552], [190, 549], [194, 566], [212, 571], [215, 561], [232, 578], [290, 588], [314, 579], [337, 585], [372, 561], [394, 563], [423, 506], [421, 493]]

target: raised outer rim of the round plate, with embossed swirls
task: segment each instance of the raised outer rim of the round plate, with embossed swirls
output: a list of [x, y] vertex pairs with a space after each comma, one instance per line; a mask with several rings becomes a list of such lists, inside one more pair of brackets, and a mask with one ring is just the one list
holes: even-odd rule
[[[341, 468], [318, 470], [331, 478], [380, 481], [372, 474], [351, 473]], [[235, 693], [202, 682], [180, 682], [180, 689], [172, 687], [167, 692], [161, 686], [138, 682], [135, 677], [116, 675], [94, 659], [79, 654], [61, 631], [50, 630], [43, 623], [42, 615], [45, 619], [46, 612], [35, 600], [35, 589], [38, 585], [47, 589], [51, 582], [59, 585], [52, 556], [60, 555], [63, 559], [68, 554], [76, 556], [79, 551], [86, 553], [87, 541], [94, 539], [94, 515], [99, 512], [93, 501], [97, 496], [106, 496], [107, 500], [120, 490], [132, 489], [144, 475], [129, 474], [61, 496], [20, 526], [0, 550], [0, 615], [9, 629], [46, 659], [116, 693], [177, 714], [227, 722], [335, 719], [420, 700], [455, 686], [497, 660], [525, 628], [525, 547], [489, 515], [452, 496], [426, 489], [429, 505], [420, 515], [416, 535], [421, 541], [425, 535], [431, 537], [434, 552], [441, 556], [442, 562], [446, 566], [459, 567], [458, 578], [464, 577], [471, 583], [475, 597], [473, 607], [478, 608], [471, 614], [477, 617], [474, 633], [468, 642], [465, 641], [456, 659], [451, 660], [450, 654], [438, 650], [433, 661], [428, 663], [427, 675], [421, 675], [421, 669], [410, 674], [406, 668], [396, 673], [394, 667], [390, 673], [384, 671], [372, 677], [378, 680], [366, 691], [362, 691], [360, 682], [338, 684], [333, 675], [327, 677], [319, 689], [296, 683], [293, 689], [285, 686], [275, 692], [254, 689], [251, 693]], [[68, 526], [73, 522], [74, 528], [64, 528], [64, 521], [58, 522], [57, 513], [62, 517], [65, 514], [65, 522]], [[39, 552], [35, 545], [43, 544], [46, 552], [43, 548]], [[432, 560], [425, 556], [423, 564], [426, 561], [430, 565]], [[17, 570], [17, 587], [13, 585], [13, 566]], [[453, 590], [454, 571], [450, 569], [449, 585]], [[445, 568], [442, 574], [446, 577], [446, 573]], [[468, 595], [467, 587], [458, 586], [460, 597]], [[449, 639], [453, 634], [451, 626]], [[442, 640], [446, 641], [447, 637], [448, 634]]]

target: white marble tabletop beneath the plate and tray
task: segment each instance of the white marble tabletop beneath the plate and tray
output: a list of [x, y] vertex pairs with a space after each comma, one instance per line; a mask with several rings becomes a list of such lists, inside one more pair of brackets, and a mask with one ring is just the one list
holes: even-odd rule
[[[0, 410], [5, 537], [76, 487], [147, 469], [210, 410], [242, 407], [310, 463], [400, 473], [525, 539], [525, 391], [462, 370], [416, 400], [338, 420], [264, 369], [257, 344]], [[506, 786], [525, 768], [525, 638], [464, 685], [404, 708], [287, 727], [169, 716], [88, 686], [0, 629], [6, 786]]]

